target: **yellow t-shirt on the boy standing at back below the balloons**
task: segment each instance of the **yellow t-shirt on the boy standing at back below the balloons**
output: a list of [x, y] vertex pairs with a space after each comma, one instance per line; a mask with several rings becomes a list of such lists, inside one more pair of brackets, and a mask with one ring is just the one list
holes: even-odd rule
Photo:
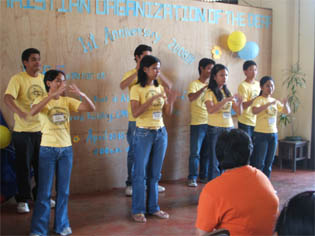
[[[259, 95], [259, 82], [254, 80], [253, 83], [243, 81], [238, 87], [238, 93], [242, 96], [243, 102], [248, 102]], [[243, 113], [238, 116], [238, 121], [245, 125], [255, 126], [256, 116], [252, 113], [251, 106], [243, 110]]]

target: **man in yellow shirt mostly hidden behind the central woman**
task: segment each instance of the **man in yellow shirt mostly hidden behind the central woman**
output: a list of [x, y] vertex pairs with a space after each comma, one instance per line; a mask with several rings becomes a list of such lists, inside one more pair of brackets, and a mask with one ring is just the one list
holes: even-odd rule
[[[140, 61], [141, 59], [146, 56], [146, 55], [151, 55], [152, 53], [152, 48], [148, 45], [145, 44], [140, 44], [137, 46], [137, 48], [134, 51], [134, 57], [135, 61], [137, 63], [136, 68], [126, 72], [120, 82], [120, 89], [124, 90], [125, 88], [128, 87], [128, 90], [130, 92], [131, 88], [137, 83], [138, 77], [137, 73], [140, 68]], [[160, 79], [161, 79], [161, 84], [167, 88], [171, 87], [170, 81], [163, 76], [162, 73], [160, 73]], [[126, 180], [126, 189], [125, 189], [125, 194], [126, 196], [131, 196], [132, 195], [132, 171], [133, 171], [133, 160], [134, 160], [134, 154], [133, 154], [133, 138], [134, 138], [134, 133], [136, 129], [136, 118], [133, 117], [132, 112], [131, 112], [131, 105], [130, 102], [128, 103], [128, 117], [129, 117], [129, 122], [128, 122], [128, 130], [127, 130], [127, 142], [129, 144], [129, 150], [128, 150], [128, 155], [127, 155], [127, 170], [128, 170], [128, 176]], [[165, 188], [163, 186], [159, 185], [159, 192], [164, 192]]]

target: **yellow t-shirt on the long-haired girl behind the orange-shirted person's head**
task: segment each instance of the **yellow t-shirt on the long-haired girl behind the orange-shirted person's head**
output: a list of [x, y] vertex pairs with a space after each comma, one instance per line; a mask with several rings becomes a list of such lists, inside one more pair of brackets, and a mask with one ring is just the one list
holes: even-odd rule
[[[223, 98], [226, 97], [223, 90], [221, 90], [223, 94]], [[208, 89], [205, 95], [205, 102], [211, 101], [213, 104], [217, 104], [218, 100], [214, 93]], [[229, 128], [233, 127], [233, 120], [232, 120], [232, 102], [227, 102], [219, 111], [209, 114], [208, 115], [208, 125], [216, 126], [216, 127], [224, 127]]]

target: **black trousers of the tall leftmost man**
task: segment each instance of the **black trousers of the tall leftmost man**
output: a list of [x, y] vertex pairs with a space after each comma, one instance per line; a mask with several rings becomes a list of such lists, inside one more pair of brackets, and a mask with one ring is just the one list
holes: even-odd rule
[[[27, 202], [36, 199], [38, 185], [38, 156], [41, 142], [41, 132], [13, 132], [12, 139], [15, 148], [15, 166], [18, 194], [17, 202]], [[31, 168], [34, 170], [35, 187], [31, 189]]]

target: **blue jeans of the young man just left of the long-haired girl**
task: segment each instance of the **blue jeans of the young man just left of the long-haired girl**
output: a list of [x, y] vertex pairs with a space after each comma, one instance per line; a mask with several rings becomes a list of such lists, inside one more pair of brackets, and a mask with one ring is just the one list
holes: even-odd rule
[[207, 124], [190, 126], [190, 155], [188, 179], [197, 179], [199, 163], [199, 178], [208, 178], [209, 158], [207, 157], [207, 128]]

